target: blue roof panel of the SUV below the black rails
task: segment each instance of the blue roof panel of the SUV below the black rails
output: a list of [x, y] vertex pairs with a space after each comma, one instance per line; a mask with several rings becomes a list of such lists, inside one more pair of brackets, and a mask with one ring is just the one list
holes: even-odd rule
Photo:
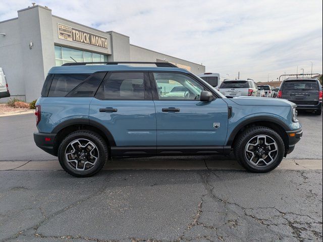
[[174, 67], [133, 67], [129, 65], [84, 65], [84, 66], [60, 66], [52, 67], [48, 74], [77, 74], [77, 73], [94, 73], [108, 71], [167, 71], [167, 72], [184, 72], [190, 73], [182, 68]]

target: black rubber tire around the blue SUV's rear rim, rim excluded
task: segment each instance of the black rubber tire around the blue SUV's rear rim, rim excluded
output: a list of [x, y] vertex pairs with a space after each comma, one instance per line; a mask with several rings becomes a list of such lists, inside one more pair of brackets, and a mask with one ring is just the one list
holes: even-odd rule
[[[76, 162], [75, 163], [67, 162], [66, 160], [65, 151], [67, 150], [68, 146], [71, 145], [71, 142], [75, 140], [81, 140], [81, 141], [87, 140], [89, 142], [92, 142], [92, 144], [94, 144], [97, 148], [96, 150], [97, 150], [98, 157], [96, 159], [96, 162], [93, 162], [94, 163], [93, 166], [91, 166], [91, 168], [87, 170], [82, 170], [82, 171], [76, 170], [75, 168], [73, 168], [73, 165], [76, 166]], [[102, 169], [108, 157], [109, 157], [109, 149], [104, 139], [97, 133], [93, 131], [88, 131], [88, 130], [75, 131], [69, 134], [63, 139], [58, 150], [58, 158], [61, 166], [67, 173], [76, 177], [88, 177], [88, 176], [94, 175], [95, 173], [97, 173]], [[83, 167], [85, 167], [85, 164]]]

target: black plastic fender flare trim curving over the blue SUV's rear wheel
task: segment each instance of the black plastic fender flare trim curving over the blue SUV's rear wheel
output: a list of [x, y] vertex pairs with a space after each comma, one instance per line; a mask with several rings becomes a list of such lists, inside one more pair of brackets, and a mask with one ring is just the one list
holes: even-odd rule
[[52, 134], [57, 134], [59, 133], [61, 130], [69, 127], [69, 126], [73, 126], [73, 125], [88, 125], [88, 126], [93, 126], [96, 129], [100, 130], [105, 137], [107, 138], [107, 140], [109, 140], [110, 146], [116, 146], [116, 141], [113, 137], [113, 135], [111, 134], [111, 132], [102, 124], [96, 122], [95, 120], [90, 120], [88, 118], [73, 118], [73, 119], [68, 119], [65, 120], [64, 122], [60, 123], [58, 126], [56, 126], [51, 133]]

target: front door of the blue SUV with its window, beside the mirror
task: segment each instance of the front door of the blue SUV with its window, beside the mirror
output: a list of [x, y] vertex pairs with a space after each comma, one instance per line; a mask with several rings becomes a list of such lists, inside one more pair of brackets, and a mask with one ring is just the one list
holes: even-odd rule
[[[184, 73], [150, 74], [156, 110], [157, 150], [162, 147], [223, 146], [228, 105], [222, 98], [201, 102], [203, 85]], [[208, 90], [207, 90], [208, 91]]]

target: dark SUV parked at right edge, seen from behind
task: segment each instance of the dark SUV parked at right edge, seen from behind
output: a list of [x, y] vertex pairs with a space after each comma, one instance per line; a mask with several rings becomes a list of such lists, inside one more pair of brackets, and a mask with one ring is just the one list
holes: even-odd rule
[[282, 82], [277, 97], [295, 103], [297, 109], [322, 113], [322, 87], [317, 79], [288, 78]]

